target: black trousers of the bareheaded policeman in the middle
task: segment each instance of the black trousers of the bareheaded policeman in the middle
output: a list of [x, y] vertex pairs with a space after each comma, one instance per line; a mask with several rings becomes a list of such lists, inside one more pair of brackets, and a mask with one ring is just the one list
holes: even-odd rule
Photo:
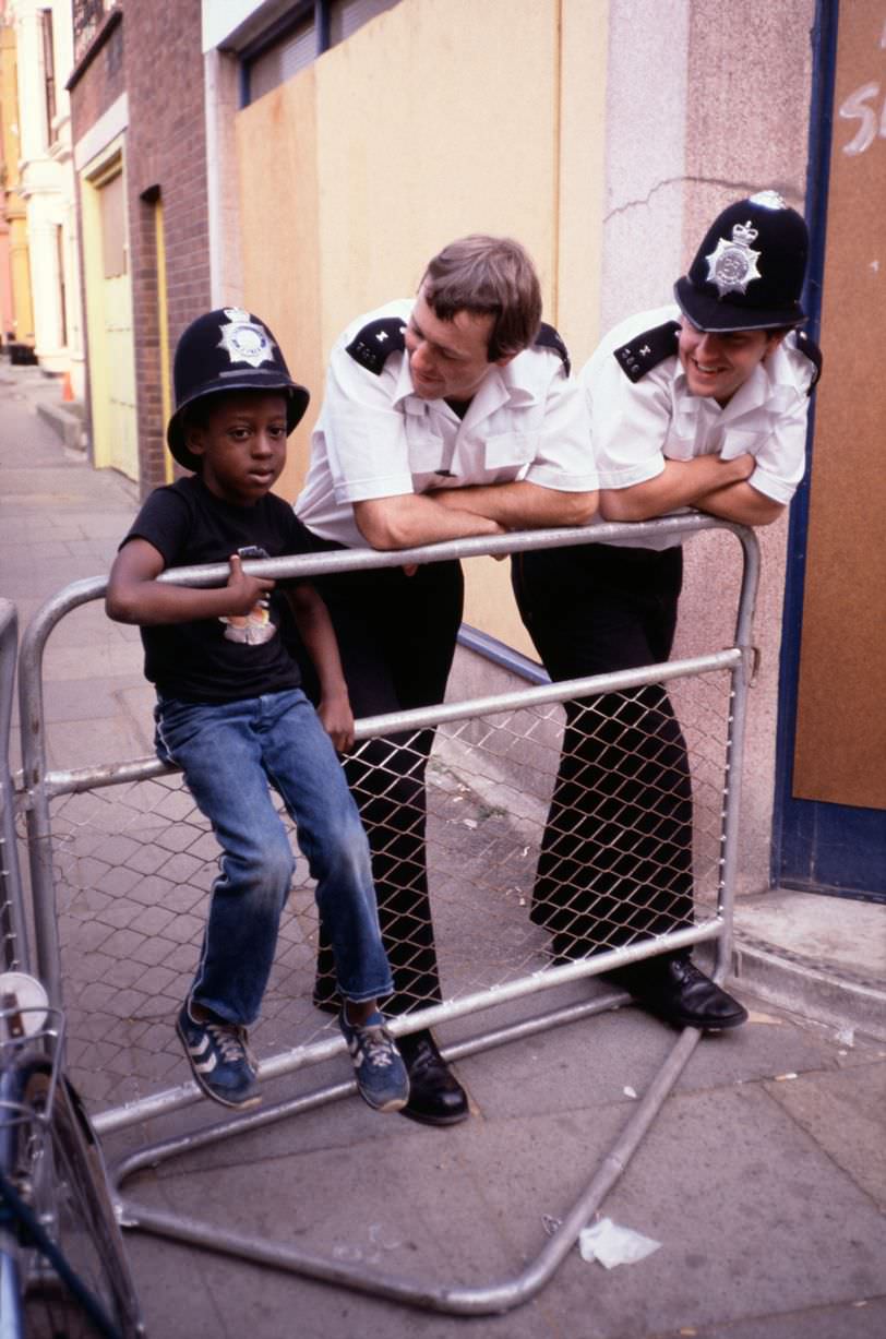
[[[332, 546], [335, 545], [321, 545]], [[356, 718], [442, 702], [462, 621], [458, 562], [319, 577]], [[311, 675], [305, 674], [311, 694]], [[315, 690], [316, 696], [316, 690]], [[393, 973], [391, 1014], [438, 1003], [440, 986], [427, 889], [424, 770], [434, 730], [359, 743], [344, 767], [372, 850], [384, 947]], [[315, 1000], [336, 1000], [332, 953], [321, 939]]]

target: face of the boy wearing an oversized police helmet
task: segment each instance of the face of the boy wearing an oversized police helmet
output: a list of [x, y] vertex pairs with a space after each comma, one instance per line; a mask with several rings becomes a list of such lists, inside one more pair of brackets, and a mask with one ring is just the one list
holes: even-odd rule
[[277, 391], [214, 395], [186, 441], [203, 462], [209, 491], [250, 506], [272, 490], [286, 463], [286, 398]]

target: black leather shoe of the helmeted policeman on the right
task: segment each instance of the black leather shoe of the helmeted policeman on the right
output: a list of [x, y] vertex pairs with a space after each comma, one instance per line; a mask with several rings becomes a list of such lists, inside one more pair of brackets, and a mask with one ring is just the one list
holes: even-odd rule
[[688, 955], [652, 959], [608, 972], [641, 1008], [675, 1027], [719, 1031], [747, 1023], [748, 1011], [700, 971]]

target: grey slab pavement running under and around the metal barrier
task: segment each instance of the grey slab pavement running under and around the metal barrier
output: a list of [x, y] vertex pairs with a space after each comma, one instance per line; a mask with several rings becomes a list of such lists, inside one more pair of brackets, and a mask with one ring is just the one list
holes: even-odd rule
[[[24, 627], [67, 582], [107, 570], [135, 487], [92, 470], [37, 407], [39, 368], [0, 362], [0, 593]], [[52, 766], [150, 753], [135, 629], [98, 605], [47, 652]], [[13, 758], [13, 767], [16, 766]], [[886, 1331], [886, 967], [882, 907], [771, 892], [736, 912], [736, 990], [751, 1022], [705, 1038], [602, 1212], [660, 1241], [605, 1271], [574, 1249], [501, 1318], [410, 1311], [145, 1235], [127, 1237], [154, 1339], [375, 1339], [456, 1334], [574, 1339], [873, 1339]], [[578, 983], [570, 998], [598, 990]], [[554, 992], [555, 994], [555, 992]], [[554, 1003], [553, 1000], [550, 1003]], [[526, 1006], [523, 1006], [523, 1010]], [[519, 1006], [495, 1011], [511, 1018]], [[443, 1043], [484, 1020], [442, 1030]], [[331, 1259], [452, 1284], [518, 1272], [590, 1180], [673, 1034], [633, 1008], [459, 1062], [474, 1115], [451, 1130], [345, 1098], [155, 1172], [131, 1193]], [[278, 1081], [290, 1095], [328, 1062]], [[183, 1078], [179, 1073], [178, 1081]], [[162, 1133], [215, 1119], [199, 1103]], [[111, 1135], [119, 1156], [137, 1131]], [[139, 1138], [158, 1137], [138, 1131]]]

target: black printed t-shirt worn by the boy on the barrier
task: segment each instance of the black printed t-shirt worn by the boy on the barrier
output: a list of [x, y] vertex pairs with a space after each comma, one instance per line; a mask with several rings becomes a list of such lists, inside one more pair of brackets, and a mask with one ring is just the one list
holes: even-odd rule
[[[199, 475], [155, 489], [123, 544], [135, 538], [153, 544], [167, 568], [226, 562], [246, 545], [272, 558], [312, 549], [309, 532], [282, 498], [269, 493], [253, 506], [234, 506], [210, 493]], [[142, 628], [146, 678], [163, 696], [185, 702], [237, 702], [297, 688], [301, 675], [280, 636], [284, 604], [274, 589], [248, 619]]]

